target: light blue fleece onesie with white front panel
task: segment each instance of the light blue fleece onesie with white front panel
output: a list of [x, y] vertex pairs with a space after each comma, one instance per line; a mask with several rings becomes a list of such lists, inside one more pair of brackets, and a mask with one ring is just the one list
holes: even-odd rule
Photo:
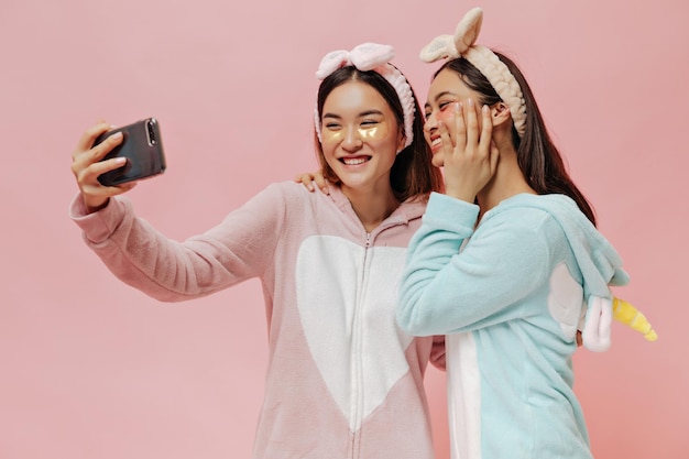
[[611, 244], [562, 195], [488, 211], [434, 194], [409, 243], [398, 320], [448, 334], [452, 458], [591, 458], [572, 391], [584, 298], [628, 281]]

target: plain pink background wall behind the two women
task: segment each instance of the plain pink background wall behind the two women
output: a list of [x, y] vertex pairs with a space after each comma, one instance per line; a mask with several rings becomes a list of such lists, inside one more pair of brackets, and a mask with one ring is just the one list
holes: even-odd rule
[[[0, 3], [0, 458], [245, 458], [262, 400], [254, 281], [164, 305], [114, 280], [67, 218], [70, 152], [99, 117], [158, 118], [167, 173], [130, 196], [183, 239], [315, 167], [314, 72], [328, 51], [417, 53], [475, 2], [121, 0]], [[572, 175], [632, 275], [656, 343], [615, 325], [577, 384], [599, 458], [689, 456], [685, 0], [483, 1], [481, 42], [529, 78]], [[445, 389], [431, 370], [439, 458]], [[392, 428], [392, 427], [391, 427]]]

